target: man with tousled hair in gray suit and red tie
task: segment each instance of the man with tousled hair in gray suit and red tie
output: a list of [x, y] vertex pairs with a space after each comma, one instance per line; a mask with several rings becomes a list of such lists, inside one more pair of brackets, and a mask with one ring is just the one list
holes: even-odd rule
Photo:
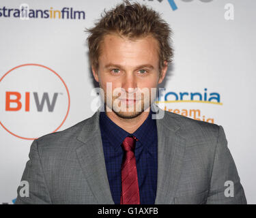
[[16, 204], [246, 204], [223, 127], [153, 104], [173, 56], [167, 22], [125, 1], [87, 31], [104, 107], [33, 142]]

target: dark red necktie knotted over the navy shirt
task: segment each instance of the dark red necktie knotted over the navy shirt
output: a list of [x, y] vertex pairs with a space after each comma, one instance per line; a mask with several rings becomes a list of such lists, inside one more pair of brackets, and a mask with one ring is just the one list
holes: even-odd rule
[[134, 136], [126, 137], [122, 144], [124, 159], [122, 162], [122, 193], [120, 204], [140, 204], [139, 183], [134, 155], [135, 140], [137, 138]]

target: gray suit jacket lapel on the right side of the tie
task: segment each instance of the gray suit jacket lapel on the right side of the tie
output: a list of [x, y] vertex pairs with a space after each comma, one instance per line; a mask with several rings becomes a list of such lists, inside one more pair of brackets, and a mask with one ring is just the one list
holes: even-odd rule
[[158, 131], [158, 177], [155, 204], [173, 204], [180, 180], [186, 141], [180, 126], [169, 114], [156, 120]]

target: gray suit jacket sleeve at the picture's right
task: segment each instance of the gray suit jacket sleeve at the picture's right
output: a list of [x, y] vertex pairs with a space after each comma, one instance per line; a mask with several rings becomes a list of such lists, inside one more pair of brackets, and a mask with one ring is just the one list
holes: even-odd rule
[[[231, 184], [233, 184], [233, 188]], [[244, 189], [227, 147], [222, 126], [219, 127], [218, 131], [207, 204], [246, 204]]]

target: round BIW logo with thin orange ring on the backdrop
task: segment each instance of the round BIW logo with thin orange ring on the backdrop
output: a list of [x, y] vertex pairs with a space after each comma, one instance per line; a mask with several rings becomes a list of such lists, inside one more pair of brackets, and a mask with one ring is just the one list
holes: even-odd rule
[[57, 131], [70, 110], [70, 94], [53, 69], [28, 63], [0, 78], [0, 125], [18, 138], [34, 140]]

